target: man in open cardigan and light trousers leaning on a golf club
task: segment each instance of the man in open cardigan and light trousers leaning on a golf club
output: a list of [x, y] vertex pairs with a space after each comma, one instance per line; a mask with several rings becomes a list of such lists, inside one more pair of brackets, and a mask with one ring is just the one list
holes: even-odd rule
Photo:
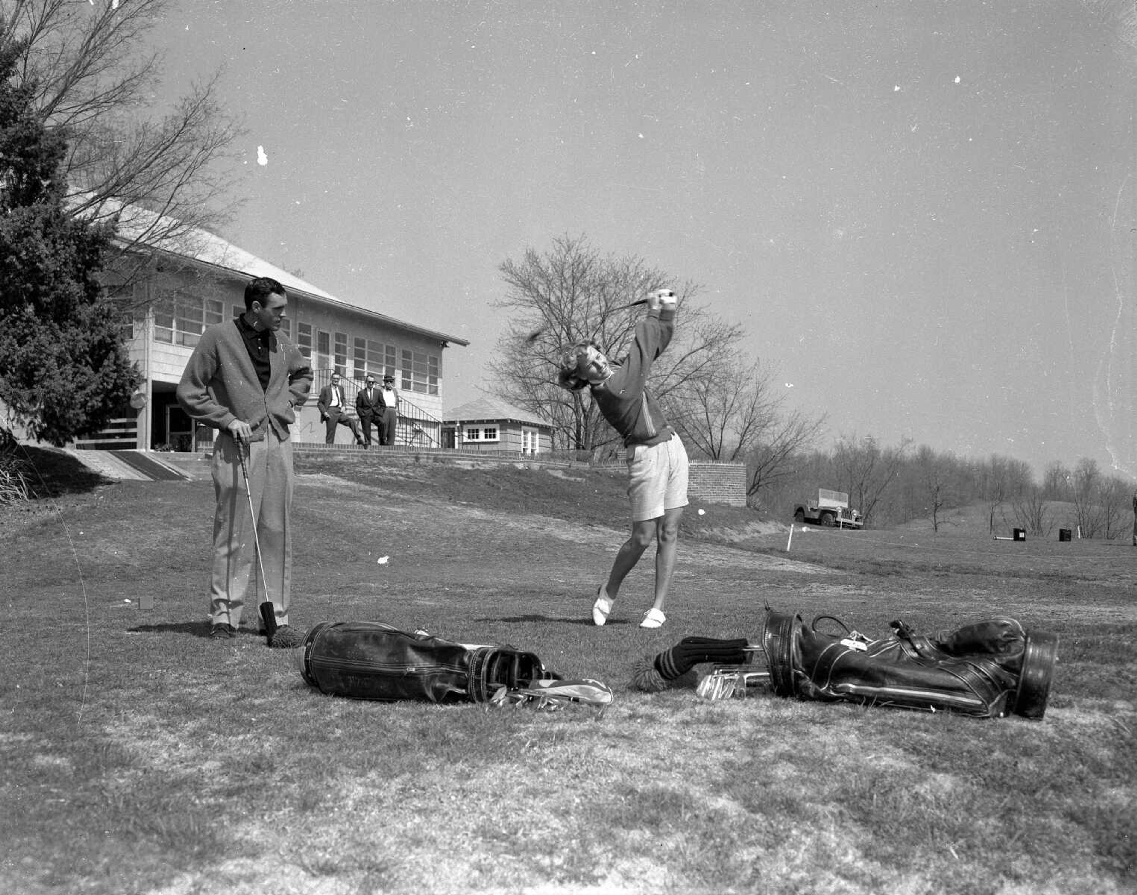
[[[256, 562], [256, 527], [264, 562], [267, 599], [277, 630], [269, 644], [299, 646], [289, 627], [292, 579], [293, 408], [312, 388], [312, 368], [299, 349], [279, 335], [288, 305], [284, 287], [267, 276], [244, 288], [244, 313], [210, 326], [201, 335], [177, 384], [177, 400], [198, 422], [218, 430], [214, 442], [213, 577], [209, 586], [211, 637], [234, 637]], [[241, 453], [249, 471], [256, 519], [242, 481]], [[256, 603], [256, 597], [255, 597]], [[257, 624], [263, 621], [254, 613]]]

